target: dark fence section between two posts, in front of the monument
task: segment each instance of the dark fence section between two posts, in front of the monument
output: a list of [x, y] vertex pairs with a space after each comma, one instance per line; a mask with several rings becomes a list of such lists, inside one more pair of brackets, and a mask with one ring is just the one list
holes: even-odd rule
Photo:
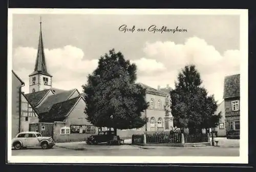
[[160, 134], [146, 134], [146, 143], [181, 143], [181, 134], [174, 133], [160, 133]]

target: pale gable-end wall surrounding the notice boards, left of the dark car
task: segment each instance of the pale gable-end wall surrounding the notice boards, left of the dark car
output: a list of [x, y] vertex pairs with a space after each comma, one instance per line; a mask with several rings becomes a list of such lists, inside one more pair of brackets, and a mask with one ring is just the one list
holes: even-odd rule
[[54, 125], [54, 141], [56, 142], [71, 142], [71, 141], [84, 141], [87, 137], [97, 134], [97, 128], [95, 127], [95, 133], [83, 133], [83, 134], [70, 134], [70, 135], [60, 135], [60, 128], [63, 126], [70, 127], [70, 125], [92, 125], [87, 121], [86, 115], [84, 114], [84, 109], [86, 103], [81, 98], [75, 105], [75, 108], [67, 117], [65, 123], [56, 123]]

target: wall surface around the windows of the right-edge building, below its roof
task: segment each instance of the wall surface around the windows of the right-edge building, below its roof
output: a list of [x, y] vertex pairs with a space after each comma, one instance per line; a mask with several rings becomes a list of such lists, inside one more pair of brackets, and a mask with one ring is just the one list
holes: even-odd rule
[[[232, 111], [231, 101], [239, 100], [239, 111]], [[225, 125], [226, 131], [230, 130], [229, 121], [240, 120], [240, 97], [225, 99]]]

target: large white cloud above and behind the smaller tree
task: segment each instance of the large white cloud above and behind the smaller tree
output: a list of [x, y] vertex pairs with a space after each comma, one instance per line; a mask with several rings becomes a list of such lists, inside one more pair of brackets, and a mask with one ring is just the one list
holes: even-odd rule
[[214, 46], [208, 45], [204, 39], [198, 37], [190, 37], [184, 44], [175, 44], [173, 41], [146, 42], [143, 51], [145, 58], [156, 59], [167, 69], [161, 76], [138, 77], [140, 81], [155, 88], [157, 85], [166, 84], [174, 87], [178, 72], [185, 65], [194, 64], [201, 73], [203, 85], [209, 94], [214, 94], [216, 100], [221, 101], [224, 77], [240, 73], [239, 50], [227, 50], [221, 54]]

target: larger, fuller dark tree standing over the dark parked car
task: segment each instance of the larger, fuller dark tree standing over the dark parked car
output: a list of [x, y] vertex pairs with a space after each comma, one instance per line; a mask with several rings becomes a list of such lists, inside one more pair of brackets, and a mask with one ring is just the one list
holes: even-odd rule
[[98, 127], [117, 129], [140, 128], [147, 119], [142, 112], [147, 109], [146, 90], [136, 81], [136, 65], [125, 60], [114, 49], [101, 56], [98, 67], [83, 85], [86, 93], [87, 119]]

